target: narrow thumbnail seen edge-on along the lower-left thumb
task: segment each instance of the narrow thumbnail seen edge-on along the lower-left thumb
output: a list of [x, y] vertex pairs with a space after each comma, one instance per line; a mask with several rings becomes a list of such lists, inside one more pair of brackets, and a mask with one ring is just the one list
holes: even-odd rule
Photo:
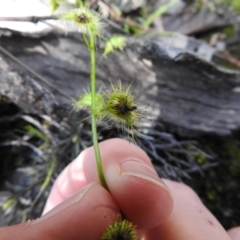
[[55, 208], [53, 208], [52, 210], [50, 210], [49, 212], [47, 212], [46, 214], [44, 214], [41, 218], [36, 219], [35, 221], [32, 221], [30, 223], [30, 225], [34, 225], [37, 223], [40, 223], [52, 216], [54, 216], [55, 214], [61, 212], [63, 209], [66, 209], [67, 207], [81, 201], [81, 199], [83, 198], [83, 196], [89, 191], [90, 188], [93, 187], [93, 185], [95, 185], [96, 183], [93, 182], [89, 185], [87, 185], [85, 188], [83, 188], [80, 192], [75, 193], [73, 196], [71, 196], [70, 198], [68, 198], [67, 200], [65, 200], [64, 202], [60, 203], [59, 205], [57, 205]]

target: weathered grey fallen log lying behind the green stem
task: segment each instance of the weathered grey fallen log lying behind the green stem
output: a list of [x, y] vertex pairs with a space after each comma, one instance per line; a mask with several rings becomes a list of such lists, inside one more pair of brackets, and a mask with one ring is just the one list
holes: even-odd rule
[[[49, 113], [56, 106], [70, 106], [77, 95], [89, 89], [89, 55], [78, 34], [35, 39], [2, 36], [0, 45], [22, 63], [2, 52], [1, 95], [25, 111]], [[129, 39], [125, 51], [106, 59], [101, 57], [101, 48], [97, 52], [99, 87], [102, 83], [107, 87], [109, 79], [131, 83], [142, 108], [146, 106], [146, 115], [151, 115], [150, 125], [164, 123], [183, 136], [229, 135], [240, 128], [238, 71], [217, 67], [159, 40]], [[149, 118], [146, 121], [149, 123]]]

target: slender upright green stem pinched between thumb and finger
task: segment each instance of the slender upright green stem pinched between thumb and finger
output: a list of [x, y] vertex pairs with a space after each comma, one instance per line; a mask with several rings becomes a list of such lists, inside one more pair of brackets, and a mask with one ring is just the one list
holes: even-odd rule
[[102, 160], [100, 155], [100, 150], [98, 146], [98, 135], [97, 135], [97, 122], [96, 122], [96, 104], [95, 104], [95, 95], [96, 95], [96, 56], [95, 56], [95, 35], [94, 32], [89, 29], [89, 37], [90, 37], [90, 57], [91, 57], [91, 108], [92, 108], [92, 140], [93, 140], [93, 147], [96, 157], [96, 163], [97, 163], [97, 171], [98, 171], [98, 177], [103, 187], [107, 188], [107, 184], [104, 178], [103, 174], [103, 168], [102, 168]]

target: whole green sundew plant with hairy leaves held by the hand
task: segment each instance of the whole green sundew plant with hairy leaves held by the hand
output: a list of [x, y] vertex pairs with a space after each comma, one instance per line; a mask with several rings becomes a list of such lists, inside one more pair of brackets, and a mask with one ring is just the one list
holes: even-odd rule
[[[78, 9], [73, 9], [61, 16], [62, 19], [73, 22], [78, 28], [90, 54], [90, 92], [80, 96], [73, 103], [75, 109], [85, 107], [91, 112], [91, 130], [94, 146], [96, 165], [99, 180], [103, 187], [108, 189], [101, 160], [101, 152], [98, 145], [97, 120], [114, 121], [121, 125], [122, 129], [128, 128], [132, 137], [137, 133], [136, 127], [142, 117], [130, 86], [124, 86], [121, 81], [111, 81], [110, 87], [98, 93], [96, 89], [96, 38], [104, 39], [100, 30], [103, 26], [99, 13], [80, 4]], [[122, 50], [126, 45], [126, 39], [122, 36], [113, 36], [106, 42], [104, 56], [114, 49]], [[110, 225], [102, 236], [102, 240], [111, 239], [137, 239], [135, 227], [124, 219]]]

